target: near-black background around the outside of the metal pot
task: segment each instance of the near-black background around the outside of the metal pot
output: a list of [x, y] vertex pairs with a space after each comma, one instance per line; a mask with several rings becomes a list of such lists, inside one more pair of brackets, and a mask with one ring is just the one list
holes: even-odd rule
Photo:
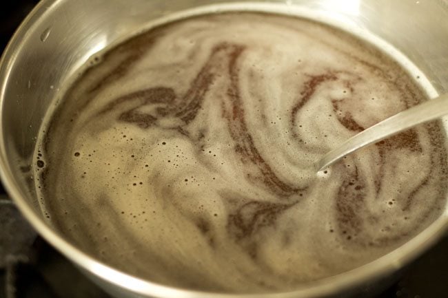
[[[37, 0], [7, 0], [0, 4], [0, 53], [3, 52], [14, 30], [38, 2]], [[4, 191], [0, 186], [0, 195], [1, 193]], [[14, 206], [9, 204], [6, 195], [3, 195], [3, 202], [8, 205], [8, 210], [4, 211], [3, 209], [3, 213], [0, 212], [0, 230], [5, 226], [1, 218], [2, 214], [6, 216], [5, 213], [11, 217], [19, 217], [14, 220], [14, 224], [21, 222], [24, 231], [29, 229]], [[3, 205], [0, 204], [0, 207]], [[17, 234], [17, 226], [14, 229]], [[2, 235], [0, 233], [0, 253], [5, 251], [4, 247], [10, 245], [2, 244], [1, 241], [5, 240], [1, 238]], [[33, 239], [30, 244], [31, 248], [26, 249], [26, 253], [32, 256], [29, 257], [30, 261], [22, 262], [20, 258], [17, 258], [17, 262], [13, 266], [0, 266], [0, 298], [108, 297], [85, 279], [70, 262], [54, 251], [44, 240], [40, 237]], [[8, 241], [14, 242], [15, 240]], [[32, 250], [31, 253], [29, 249]], [[8, 284], [11, 281], [11, 276], [14, 277], [12, 278], [14, 285]], [[411, 264], [403, 273], [400, 281], [378, 296], [378, 298], [394, 297], [448, 298], [448, 237], [442, 239], [437, 246]]]

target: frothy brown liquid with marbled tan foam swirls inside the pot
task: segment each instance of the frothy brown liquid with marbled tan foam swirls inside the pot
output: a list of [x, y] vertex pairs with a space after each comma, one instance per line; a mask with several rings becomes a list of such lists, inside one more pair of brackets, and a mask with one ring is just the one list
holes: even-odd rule
[[265, 292], [397, 248], [446, 204], [439, 123], [329, 149], [426, 100], [388, 56], [294, 17], [161, 25], [105, 52], [41, 136], [43, 210], [106, 264], [161, 284]]

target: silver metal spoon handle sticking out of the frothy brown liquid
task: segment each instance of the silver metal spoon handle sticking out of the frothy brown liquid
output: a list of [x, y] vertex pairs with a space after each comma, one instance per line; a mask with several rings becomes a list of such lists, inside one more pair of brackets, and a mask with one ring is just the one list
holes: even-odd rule
[[361, 131], [326, 153], [314, 164], [314, 167], [316, 167], [316, 171], [322, 171], [355, 150], [394, 136], [421, 123], [435, 120], [445, 114], [448, 114], [448, 94], [442, 94], [425, 103], [400, 111], [400, 113]]

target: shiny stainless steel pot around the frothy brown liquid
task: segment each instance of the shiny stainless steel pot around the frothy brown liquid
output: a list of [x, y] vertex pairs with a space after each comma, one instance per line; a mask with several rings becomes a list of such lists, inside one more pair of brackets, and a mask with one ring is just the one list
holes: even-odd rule
[[[43, 0], [22, 23], [0, 64], [1, 178], [19, 209], [39, 233], [97, 284], [116, 297], [235, 297], [154, 284], [101, 264], [45, 223], [30, 164], [37, 132], [61, 85], [89, 56], [148, 21], [219, 0]], [[238, 1], [246, 3], [248, 1]], [[350, 23], [394, 45], [448, 92], [448, 2], [389, 0], [271, 0], [299, 7], [328, 21]], [[447, 230], [448, 211], [396, 251], [360, 268], [307, 284], [294, 292], [244, 297], [348, 297], [389, 279]], [[365, 294], [362, 294], [365, 297]]]

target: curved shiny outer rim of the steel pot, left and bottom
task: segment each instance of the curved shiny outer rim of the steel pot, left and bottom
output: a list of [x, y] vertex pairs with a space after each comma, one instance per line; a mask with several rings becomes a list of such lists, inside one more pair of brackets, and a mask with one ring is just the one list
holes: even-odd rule
[[32, 206], [26, 202], [26, 195], [20, 189], [19, 183], [12, 174], [8, 156], [6, 155], [6, 147], [3, 131], [3, 104], [5, 103], [5, 90], [8, 82], [10, 70], [14, 67], [14, 61], [17, 58], [17, 52], [21, 51], [23, 47], [23, 37], [27, 32], [39, 22], [41, 17], [50, 10], [52, 6], [57, 6], [63, 0], [42, 0], [34, 7], [32, 12], [28, 14], [26, 19], [21, 23], [16, 30], [12, 39], [8, 43], [3, 55], [0, 59], [0, 178], [3, 185], [14, 201], [17, 204], [19, 211], [30, 222], [30, 224], [37, 230], [37, 232], [52, 246], [70, 259], [74, 264], [81, 268], [108, 281], [119, 288], [134, 292], [139, 295], [151, 295], [152, 297], [198, 297], [198, 298], [225, 298], [225, 297], [246, 297], [246, 298], [289, 298], [289, 297], [322, 297], [334, 294], [335, 292], [343, 292], [349, 288], [356, 286], [367, 285], [368, 281], [375, 281], [381, 277], [385, 277], [389, 273], [403, 268], [413, 259], [418, 257], [421, 253], [426, 251], [435, 242], [437, 242], [445, 232], [448, 230], [448, 210], [445, 211], [435, 222], [429, 225], [425, 230], [420, 232], [416, 237], [412, 238], [402, 246], [396, 248], [394, 251], [383, 255], [382, 257], [354, 268], [345, 273], [327, 277], [317, 281], [312, 281], [303, 284], [301, 288], [287, 292], [271, 292], [271, 293], [254, 293], [254, 294], [230, 294], [222, 292], [203, 292], [198, 290], [188, 290], [183, 288], [174, 288], [172, 286], [163, 286], [152, 281], [146, 281], [138, 277], [134, 277], [120, 270], [112, 268], [107, 264], [103, 264], [94, 259], [90, 255], [83, 253], [81, 249], [77, 248], [67, 240], [65, 240], [59, 233], [54, 231], [42, 218], [32, 209]]

